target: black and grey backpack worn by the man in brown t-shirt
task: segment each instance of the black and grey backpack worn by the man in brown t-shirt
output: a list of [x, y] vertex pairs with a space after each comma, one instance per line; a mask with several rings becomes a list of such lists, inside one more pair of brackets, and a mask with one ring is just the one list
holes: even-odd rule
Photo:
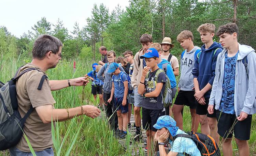
[[[31, 70], [38, 69], [28, 68], [17, 76], [18, 70], [13, 79], [4, 85], [0, 85], [0, 151], [9, 149], [20, 141], [25, 121], [34, 110], [31, 105], [24, 118], [21, 118], [16, 92], [16, 82], [19, 77]], [[37, 89], [41, 90], [43, 82], [47, 78], [46, 75], [42, 76]]]

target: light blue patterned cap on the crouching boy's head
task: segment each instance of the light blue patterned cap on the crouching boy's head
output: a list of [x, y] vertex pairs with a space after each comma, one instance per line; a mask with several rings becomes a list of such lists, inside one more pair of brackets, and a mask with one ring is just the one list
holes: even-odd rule
[[179, 127], [176, 126], [176, 121], [169, 115], [159, 117], [153, 127], [156, 129], [166, 127], [169, 130], [171, 136], [175, 136], [179, 129]]

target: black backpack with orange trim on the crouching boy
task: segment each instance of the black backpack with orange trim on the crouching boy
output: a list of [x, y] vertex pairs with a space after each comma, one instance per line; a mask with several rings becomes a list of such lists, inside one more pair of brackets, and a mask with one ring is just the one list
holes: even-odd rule
[[[210, 135], [205, 135], [202, 133], [187, 132], [187, 134], [177, 134], [174, 136], [173, 141], [177, 137], [184, 137], [192, 139], [196, 145], [201, 155], [205, 156], [221, 156], [218, 145], [215, 140]], [[188, 154], [186, 154], [189, 156]]]

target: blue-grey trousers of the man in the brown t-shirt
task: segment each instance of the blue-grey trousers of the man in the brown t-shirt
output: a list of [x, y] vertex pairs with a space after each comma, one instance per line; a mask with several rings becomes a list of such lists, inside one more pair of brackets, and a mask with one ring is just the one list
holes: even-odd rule
[[[15, 146], [10, 148], [10, 154], [11, 156], [33, 156], [31, 152], [22, 152], [19, 149], [17, 149]], [[53, 148], [47, 148], [43, 151], [35, 152], [37, 156], [54, 156]]]

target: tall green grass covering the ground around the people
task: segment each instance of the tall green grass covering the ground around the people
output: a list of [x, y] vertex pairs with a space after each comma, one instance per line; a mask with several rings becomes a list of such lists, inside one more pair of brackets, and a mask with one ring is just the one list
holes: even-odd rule
[[[7, 82], [15, 74], [19, 66], [25, 65], [30, 60], [2, 58], [0, 60], [0, 81]], [[91, 70], [92, 62], [76, 60], [76, 72], [73, 74], [73, 62], [61, 60], [55, 69], [47, 71], [50, 80], [63, 80], [80, 77]], [[178, 79], [178, 78], [177, 78]], [[84, 87], [84, 101], [82, 103], [83, 87], [68, 87], [59, 91], [53, 91], [56, 100], [55, 108], [70, 108], [86, 104], [97, 105], [99, 99], [94, 101], [90, 94], [90, 85]], [[189, 131], [191, 117], [189, 108], [184, 108], [184, 131]], [[125, 150], [113, 137], [108, 123], [103, 118], [91, 119], [86, 116], [78, 117], [70, 121], [56, 123], [52, 131], [55, 155], [81, 155], [81, 156], [119, 156], [131, 155], [131, 150]], [[129, 135], [126, 141], [128, 145]], [[251, 155], [256, 155], [256, 117], [253, 115], [251, 139], [248, 141]], [[233, 139], [233, 153], [238, 155], [238, 148]], [[133, 143], [135, 144], [135, 143]], [[221, 148], [221, 145], [220, 145]], [[144, 155], [140, 148], [141, 155]], [[1, 151], [0, 156], [8, 156], [9, 151]]]

